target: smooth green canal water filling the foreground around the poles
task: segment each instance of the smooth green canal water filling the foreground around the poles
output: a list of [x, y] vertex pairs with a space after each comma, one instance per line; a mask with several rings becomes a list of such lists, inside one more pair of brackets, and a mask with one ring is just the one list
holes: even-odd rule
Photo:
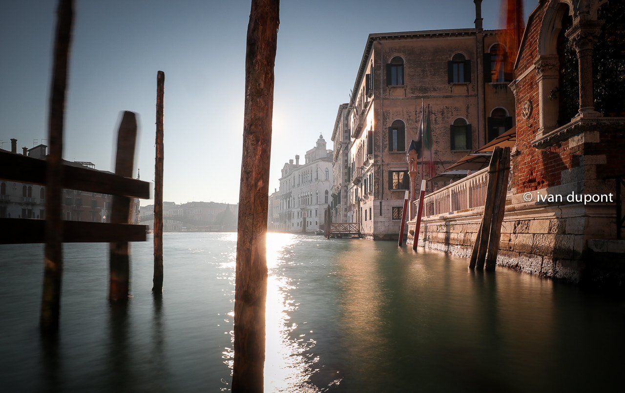
[[[42, 246], [1, 246], [0, 391], [229, 391], [236, 234], [132, 245], [128, 307], [103, 244], [64, 245], [56, 343], [37, 331]], [[266, 392], [621, 392], [625, 305], [394, 242], [268, 234]]]

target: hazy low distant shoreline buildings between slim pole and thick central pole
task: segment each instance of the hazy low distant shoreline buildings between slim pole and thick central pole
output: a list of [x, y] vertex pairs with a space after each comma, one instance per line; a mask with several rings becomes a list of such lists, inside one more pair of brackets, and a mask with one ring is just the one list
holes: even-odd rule
[[[163, 231], [234, 232], [238, 214], [238, 204], [163, 202]], [[141, 207], [139, 222], [154, 230], [154, 205]]]

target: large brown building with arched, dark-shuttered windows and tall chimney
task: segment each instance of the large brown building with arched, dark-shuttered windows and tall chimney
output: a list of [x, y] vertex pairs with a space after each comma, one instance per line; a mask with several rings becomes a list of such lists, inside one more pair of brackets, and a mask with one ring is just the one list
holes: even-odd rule
[[[406, 150], [429, 107], [429, 179], [513, 126], [511, 78], [497, 31], [474, 28], [369, 34], [347, 107], [349, 145], [342, 202], [347, 220], [368, 239], [397, 239], [409, 187]], [[340, 122], [339, 122], [340, 125]], [[336, 147], [335, 147], [336, 151]], [[428, 187], [440, 184], [430, 183]], [[338, 195], [338, 192], [336, 193]]]

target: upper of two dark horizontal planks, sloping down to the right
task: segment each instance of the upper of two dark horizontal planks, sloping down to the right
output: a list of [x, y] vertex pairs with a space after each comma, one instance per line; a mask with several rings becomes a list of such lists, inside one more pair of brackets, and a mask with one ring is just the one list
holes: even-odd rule
[[[69, 164], [63, 166], [61, 187], [86, 192], [98, 192], [129, 198], [149, 199], [149, 182], [118, 176]], [[46, 160], [0, 151], [0, 179], [31, 184], [46, 184]]]

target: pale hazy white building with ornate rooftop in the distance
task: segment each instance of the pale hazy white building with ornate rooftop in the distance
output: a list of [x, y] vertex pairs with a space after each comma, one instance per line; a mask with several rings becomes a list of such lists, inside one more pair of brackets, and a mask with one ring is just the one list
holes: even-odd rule
[[282, 167], [279, 189], [279, 231], [316, 232], [324, 229], [324, 213], [330, 205], [332, 150], [319, 135], [316, 146]]

